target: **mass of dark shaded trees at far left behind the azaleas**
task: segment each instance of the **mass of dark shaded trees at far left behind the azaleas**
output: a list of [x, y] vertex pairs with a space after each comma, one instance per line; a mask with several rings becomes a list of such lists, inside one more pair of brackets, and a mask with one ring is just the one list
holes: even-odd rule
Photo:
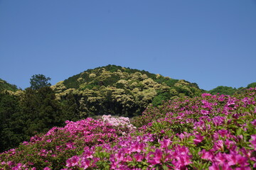
[[54, 91], [43, 87], [38, 91], [28, 88], [16, 94], [2, 91], [0, 118], [0, 151], [3, 151], [53, 126], [64, 125], [65, 120], [73, 117], [55, 100]]

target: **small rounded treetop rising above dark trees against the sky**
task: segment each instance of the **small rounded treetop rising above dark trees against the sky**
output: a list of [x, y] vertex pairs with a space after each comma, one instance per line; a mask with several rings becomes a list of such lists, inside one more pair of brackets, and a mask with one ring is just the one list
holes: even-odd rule
[[30, 88], [33, 90], [38, 90], [42, 87], [50, 86], [51, 84], [48, 81], [50, 81], [50, 77], [46, 77], [43, 74], [35, 74], [31, 77]]

